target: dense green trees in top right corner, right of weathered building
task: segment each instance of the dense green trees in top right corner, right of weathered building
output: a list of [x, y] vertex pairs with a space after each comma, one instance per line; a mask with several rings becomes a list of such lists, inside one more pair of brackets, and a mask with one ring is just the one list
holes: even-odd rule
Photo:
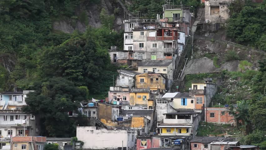
[[259, 7], [250, 1], [236, 0], [230, 6], [227, 33], [237, 42], [266, 51], [265, 1]]

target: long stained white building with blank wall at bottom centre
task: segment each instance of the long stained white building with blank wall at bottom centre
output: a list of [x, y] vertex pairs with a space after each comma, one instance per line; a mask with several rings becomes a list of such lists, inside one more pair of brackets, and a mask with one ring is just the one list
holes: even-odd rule
[[135, 149], [134, 129], [105, 129], [99, 127], [77, 127], [76, 137], [84, 142], [83, 149]]

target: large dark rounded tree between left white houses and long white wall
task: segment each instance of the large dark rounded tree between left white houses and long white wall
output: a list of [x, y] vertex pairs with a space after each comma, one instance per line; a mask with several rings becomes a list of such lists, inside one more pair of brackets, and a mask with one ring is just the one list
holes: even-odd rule
[[70, 137], [75, 134], [69, 111], [75, 111], [86, 95], [64, 78], [51, 78], [35, 92], [28, 94], [24, 111], [38, 114], [47, 136]]

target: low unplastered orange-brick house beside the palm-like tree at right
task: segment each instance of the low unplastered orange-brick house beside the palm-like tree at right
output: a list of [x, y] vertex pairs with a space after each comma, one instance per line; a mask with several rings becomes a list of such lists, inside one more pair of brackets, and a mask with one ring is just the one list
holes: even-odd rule
[[205, 114], [209, 123], [236, 123], [229, 108], [207, 108]]

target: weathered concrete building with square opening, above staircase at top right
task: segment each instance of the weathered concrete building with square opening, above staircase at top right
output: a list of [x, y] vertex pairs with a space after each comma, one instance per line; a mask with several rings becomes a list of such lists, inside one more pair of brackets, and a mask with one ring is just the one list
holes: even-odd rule
[[232, 0], [205, 0], [205, 21], [226, 22], [229, 18], [229, 4]]

